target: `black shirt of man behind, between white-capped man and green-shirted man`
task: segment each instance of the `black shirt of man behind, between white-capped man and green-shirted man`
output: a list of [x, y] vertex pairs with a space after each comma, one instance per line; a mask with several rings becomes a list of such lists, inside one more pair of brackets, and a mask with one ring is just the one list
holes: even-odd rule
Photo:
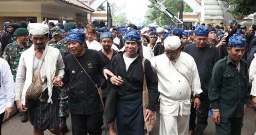
[[207, 44], [204, 48], [198, 48], [197, 44], [186, 45], [183, 52], [190, 54], [196, 64], [203, 90], [203, 97], [208, 97], [208, 87], [212, 76], [213, 65], [218, 61], [218, 50], [214, 45]]

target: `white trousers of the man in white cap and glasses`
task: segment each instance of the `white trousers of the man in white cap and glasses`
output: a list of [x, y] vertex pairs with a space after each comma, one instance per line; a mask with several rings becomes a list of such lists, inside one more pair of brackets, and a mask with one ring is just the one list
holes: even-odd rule
[[160, 114], [159, 135], [187, 135], [190, 115], [164, 116]]

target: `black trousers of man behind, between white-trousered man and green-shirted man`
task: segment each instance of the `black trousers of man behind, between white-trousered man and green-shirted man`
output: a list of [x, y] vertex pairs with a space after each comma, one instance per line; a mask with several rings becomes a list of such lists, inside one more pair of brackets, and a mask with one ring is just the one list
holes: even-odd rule
[[195, 135], [202, 135], [208, 122], [208, 111], [210, 109], [210, 100], [208, 97], [201, 97], [201, 104], [197, 110], [197, 126], [194, 131]]

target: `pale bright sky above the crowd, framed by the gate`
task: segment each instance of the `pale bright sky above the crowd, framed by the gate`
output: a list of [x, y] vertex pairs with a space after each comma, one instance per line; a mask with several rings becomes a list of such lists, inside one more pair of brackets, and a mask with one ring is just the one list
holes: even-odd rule
[[125, 3], [126, 8], [123, 12], [126, 13], [127, 19], [133, 23], [143, 22], [148, 9], [147, 5], [150, 4], [149, 0], [108, 0], [108, 2], [115, 3], [117, 7], [120, 7]]

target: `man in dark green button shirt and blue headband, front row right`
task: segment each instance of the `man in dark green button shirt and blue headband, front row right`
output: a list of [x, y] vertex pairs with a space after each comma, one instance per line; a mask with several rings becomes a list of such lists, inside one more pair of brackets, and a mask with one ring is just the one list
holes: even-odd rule
[[212, 119], [216, 124], [215, 135], [240, 135], [243, 116], [247, 107], [248, 68], [245, 38], [234, 34], [227, 47], [229, 55], [215, 63], [209, 87], [213, 108]]

